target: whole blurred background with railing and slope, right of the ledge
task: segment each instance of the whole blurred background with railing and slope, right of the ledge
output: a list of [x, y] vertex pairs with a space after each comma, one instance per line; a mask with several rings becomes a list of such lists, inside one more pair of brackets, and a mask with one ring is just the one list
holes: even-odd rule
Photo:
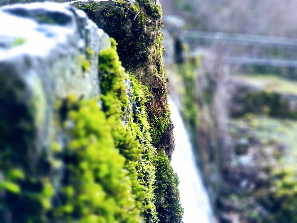
[[205, 222], [297, 222], [297, 2], [160, 1], [170, 95], [213, 209]]

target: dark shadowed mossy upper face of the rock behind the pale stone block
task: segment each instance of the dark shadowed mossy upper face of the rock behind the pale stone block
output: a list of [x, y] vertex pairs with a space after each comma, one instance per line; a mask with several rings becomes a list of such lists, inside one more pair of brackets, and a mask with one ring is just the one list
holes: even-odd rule
[[[145, 6], [142, 2], [131, 5], [123, 0], [107, 3], [78, 2], [74, 5], [85, 10], [99, 27], [104, 28], [105, 32], [119, 43], [119, 56], [124, 67], [129, 69], [138, 66], [149, 56], [145, 49], [155, 40], [152, 39], [150, 30], [146, 28], [161, 18], [157, 13], [161, 10], [159, 5], [154, 6], [149, 1], [144, 2], [146, 2]], [[127, 27], [127, 24], [131, 27]], [[131, 33], [124, 34], [127, 32]]]

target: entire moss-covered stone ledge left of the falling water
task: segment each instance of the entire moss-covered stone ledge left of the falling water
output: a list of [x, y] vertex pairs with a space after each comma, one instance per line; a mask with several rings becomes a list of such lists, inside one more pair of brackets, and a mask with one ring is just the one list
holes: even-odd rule
[[[55, 14], [48, 11], [49, 4], [66, 11]], [[160, 5], [71, 4], [86, 11], [118, 46], [113, 38], [107, 43], [106, 34], [90, 28], [93, 23], [82, 19], [83, 12], [68, 4], [3, 9], [12, 17], [34, 20], [42, 28], [38, 30], [60, 26], [64, 35], [69, 29], [65, 33], [73, 40], [70, 46], [55, 47], [75, 53], [67, 57], [61, 51], [67, 58], [64, 63], [51, 57], [55, 51], [49, 50], [37, 55], [37, 63], [35, 55], [25, 51], [30, 39], [13, 37], [5, 42], [9, 59], [0, 61], [4, 86], [0, 100], [6, 104], [0, 109], [0, 221], [181, 222], [179, 182], [170, 166], [174, 142], [161, 60]], [[76, 31], [71, 29], [77, 28], [78, 38], [72, 38], [70, 33]], [[97, 33], [104, 37], [96, 41], [92, 37]], [[12, 47], [10, 42], [20, 43]], [[19, 52], [15, 49], [24, 50], [19, 62], [14, 60]], [[28, 72], [18, 69], [20, 64], [28, 66]], [[13, 72], [14, 80], [9, 78]], [[88, 80], [90, 85], [80, 89], [80, 83]], [[41, 105], [45, 113], [40, 112]]]

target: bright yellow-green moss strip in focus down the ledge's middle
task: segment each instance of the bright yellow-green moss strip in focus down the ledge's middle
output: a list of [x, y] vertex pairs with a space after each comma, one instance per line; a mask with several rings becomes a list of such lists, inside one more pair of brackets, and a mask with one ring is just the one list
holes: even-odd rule
[[[132, 192], [136, 195], [137, 207], [147, 222], [156, 222], [153, 181], [153, 148], [150, 144], [149, 128], [145, 110], [141, 103], [143, 93], [136, 90], [136, 80], [131, 81], [129, 103], [125, 82], [128, 76], [121, 67], [118, 54], [113, 49], [102, 50], [99, 56], [99, 79], [102, 109], [112, 128], [115, 146], [126, 158], [125, 167], [132, 181]], [[146, 134], [147, 133], [147, 134]], [[144, 144], [145, 143], [145, 144]]]

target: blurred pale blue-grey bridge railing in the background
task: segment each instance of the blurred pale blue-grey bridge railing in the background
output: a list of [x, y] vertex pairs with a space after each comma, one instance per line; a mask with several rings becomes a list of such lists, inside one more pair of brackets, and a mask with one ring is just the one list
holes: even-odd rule
[[221, 46], [230, 64], [297, 68], [297, 38], [187, 31], [185, 39], [192, 50]]

